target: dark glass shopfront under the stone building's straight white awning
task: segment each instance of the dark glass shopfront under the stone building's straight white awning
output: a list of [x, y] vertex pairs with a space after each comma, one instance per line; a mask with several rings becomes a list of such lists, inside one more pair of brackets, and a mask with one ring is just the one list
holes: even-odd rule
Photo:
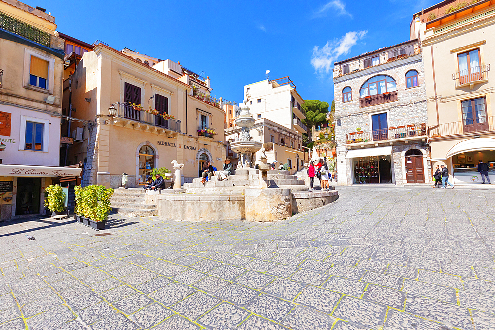
[[353, 158], [354, 184], [392, 183], [390, 155]]

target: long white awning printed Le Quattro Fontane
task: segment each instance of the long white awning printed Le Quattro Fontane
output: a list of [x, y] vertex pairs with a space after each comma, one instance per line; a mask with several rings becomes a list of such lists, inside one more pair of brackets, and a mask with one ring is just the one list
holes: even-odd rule
[[68, 177], [78, 176], [81, 171], [79, 167], [0, 164], [2, 177]]

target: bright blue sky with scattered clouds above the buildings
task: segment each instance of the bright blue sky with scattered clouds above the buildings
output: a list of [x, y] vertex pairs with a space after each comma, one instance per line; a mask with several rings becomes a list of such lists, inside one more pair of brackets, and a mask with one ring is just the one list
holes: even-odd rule
[[[206, 72], [212, 95], [241, 102], [243, 86], [290, 76], [304, 99], [333, 99], [336, 60], [409, 39], [412, 15], [437, 2], [24, 0], [58, 31]], [[64, 5], [61, 5], [64, 3]]]

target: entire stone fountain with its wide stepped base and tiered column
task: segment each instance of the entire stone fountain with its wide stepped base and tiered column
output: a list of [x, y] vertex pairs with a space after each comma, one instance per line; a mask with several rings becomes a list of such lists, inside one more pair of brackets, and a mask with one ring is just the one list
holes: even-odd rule
[[[156, 197], [159, 216], [182, 221], [278, 221], [338, 198], [333, 187], [331, 191], [309, 192], [304, 180], [290, 171], [271, 170], [270, 164], [266, 164], [263, 144], [253, 141], [249, 134], [255, 120], [249, 112], [248, 101], [249, 94], [235, 120], [241, 128], [241, 136], [230, 144], [232, 150], [242, 156], [235, 173], [228, 180], [213, 176], [205, 183], [201, 182], [202, 178], [196, 178], [184, 184], [186, 193]], [[254, 169], [253, 155], [260, 149], [259, 169]], [[179, 169], [175, 166], [174, 169], [180, 174]]]

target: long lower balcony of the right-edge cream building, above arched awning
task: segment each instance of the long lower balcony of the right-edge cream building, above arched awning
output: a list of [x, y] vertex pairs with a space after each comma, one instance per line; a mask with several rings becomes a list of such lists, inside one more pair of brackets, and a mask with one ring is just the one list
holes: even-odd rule
[[428, 138], [439, 140], [446, 137], [460, 137], [465, 135], [477, 135], [483, 132], [495, 131], [495, 116], [466, 119], [453, 123], [440, 124], [438, 127], [428, 127]]

